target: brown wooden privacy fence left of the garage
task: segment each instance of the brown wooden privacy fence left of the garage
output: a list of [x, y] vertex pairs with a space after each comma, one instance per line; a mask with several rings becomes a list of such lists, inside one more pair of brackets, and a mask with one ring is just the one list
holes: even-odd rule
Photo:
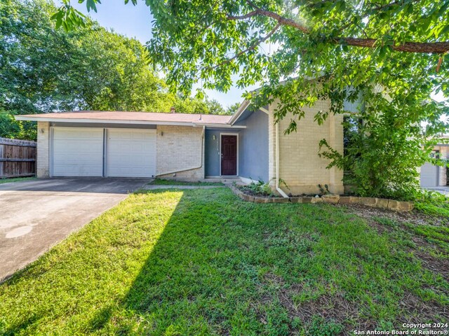
[[0, 138], [0, 179], [36, 174], [36, 142]]

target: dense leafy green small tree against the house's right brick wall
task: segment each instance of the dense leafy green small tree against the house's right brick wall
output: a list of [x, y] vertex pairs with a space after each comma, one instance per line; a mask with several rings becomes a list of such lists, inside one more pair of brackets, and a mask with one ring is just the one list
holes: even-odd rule
[[[363, 90], [363, 97], [363, 108], [345, 118], [344, 153], [323, 139], [321, 157], [330, 160], [328, 167], [344, 169], [344, 182], [356, 195], [402, 200], [420, 197], [417, 167], [431, 161], [431, 149], [442, 141], [439, 134], [448, 130], [440, 120], [448, 108], [413, 90], [406, 97], [400, 91], [387, 97]], [[420, 127], [424, 122], [428, 123], [425, 129]]]

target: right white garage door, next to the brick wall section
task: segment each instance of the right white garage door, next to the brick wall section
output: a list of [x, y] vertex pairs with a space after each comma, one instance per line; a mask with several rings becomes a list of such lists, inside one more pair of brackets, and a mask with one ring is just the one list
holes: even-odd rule
[[107, 129], [106, 176], [156, 175], [156, 130]]

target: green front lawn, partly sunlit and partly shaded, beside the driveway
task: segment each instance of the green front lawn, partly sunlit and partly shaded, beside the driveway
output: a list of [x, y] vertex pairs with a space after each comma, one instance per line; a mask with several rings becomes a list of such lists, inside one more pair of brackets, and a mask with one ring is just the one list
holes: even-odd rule
[[[0, 335], [354, 335], [449, 322], [449, 283], [408, 239], [342, 207], [254, 204], [228, 188], [130, 195], [0, 285]], [[445, 250], [438, 258], [447, 267]]]

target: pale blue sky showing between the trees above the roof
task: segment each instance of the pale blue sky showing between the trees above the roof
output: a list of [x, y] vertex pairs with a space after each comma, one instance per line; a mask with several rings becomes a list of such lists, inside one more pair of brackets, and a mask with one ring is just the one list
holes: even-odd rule
[[[53, 0], [56, 6], [60, 6], [59, 0]], [[130, 2], [125, 5], [124, 0], [104, 0], [97, 6], [98, 13], [91, 10], [88, 13], [86, 3], [78, 3], [72, 0], [71, 4], [81, 13], [90, 15], [103, 27], [113, 29], [116, 33], [137, 38], [145, 44], [152, 36], [152, 13], [145, 3], [138, 1], [137, 6], [133, 6]], [[250, 87], [253, 90], [256, 87]], [[232, 87], [228, 92], [217, 92], [207, 90], [209, 99], [217, 99], [222, 106], [229, 106], [236, 102], [243, 102], [241, 95], [245, 90]]]

